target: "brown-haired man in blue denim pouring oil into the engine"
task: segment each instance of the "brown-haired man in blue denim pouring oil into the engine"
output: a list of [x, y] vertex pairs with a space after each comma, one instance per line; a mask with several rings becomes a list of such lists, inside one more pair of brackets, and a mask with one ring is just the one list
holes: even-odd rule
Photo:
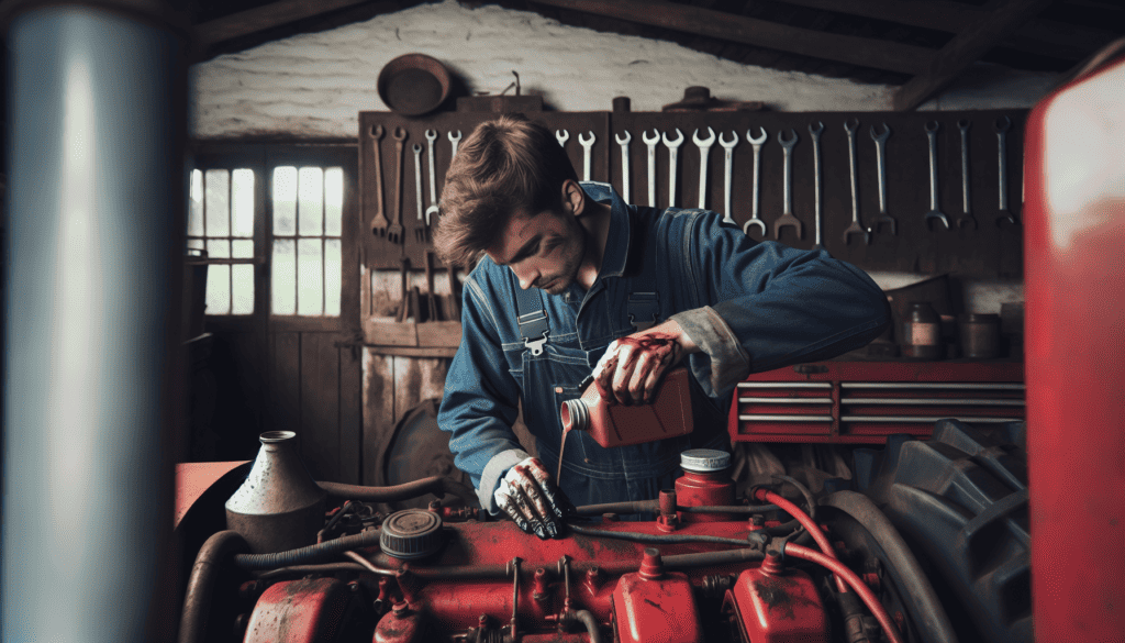
[[[566, 498], [655, 498], [682, 450], [726, 446], [731, 392], [749, 373], [862, 347], [890, 319], [871, 278], [827, 252], [755, 243], [713, 212], [628, 205], [605, 184], [579, 184], [551, 133], [519, 116], [465, 140], [440, 207], [439, 254], [479, 262], [438, 423], [482, 506], [541, 538], [559, 533]], [[685, 360], [694, 432], [605, 449], [576, 431], [558, 497], [548, 471], [562, 401], [593, 375], [603, 398], [646, 403]], [[521, 400], [546, 466], [512, 432]]]

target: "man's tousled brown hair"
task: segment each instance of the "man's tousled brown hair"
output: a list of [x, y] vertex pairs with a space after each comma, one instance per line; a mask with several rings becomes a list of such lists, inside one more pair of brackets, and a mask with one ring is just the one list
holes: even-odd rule
[[434, 248], [446, 264], [470, 266], [516, 214], [562, 208], [562, 182], [578, 180], [547, 127], [521, 114], [482, 123], [461, 143], [441, 190]]

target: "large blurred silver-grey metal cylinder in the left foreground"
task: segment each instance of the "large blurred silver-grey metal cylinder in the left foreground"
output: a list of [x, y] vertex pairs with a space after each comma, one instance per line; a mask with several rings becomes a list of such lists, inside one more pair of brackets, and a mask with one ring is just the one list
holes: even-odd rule
[[166, 640], [177, 619], [184, 47], [161, 2], [114, 3], [6, 16], [11, 641]]

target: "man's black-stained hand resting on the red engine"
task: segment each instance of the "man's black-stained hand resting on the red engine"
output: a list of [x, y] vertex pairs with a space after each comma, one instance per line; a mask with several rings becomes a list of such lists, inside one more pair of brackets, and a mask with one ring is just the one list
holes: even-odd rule
[[562, 519], [574, 508], [537, 457], [525, 458], [510, 468], [493, 498], [518, 527], [544, 541], [562, 532]]

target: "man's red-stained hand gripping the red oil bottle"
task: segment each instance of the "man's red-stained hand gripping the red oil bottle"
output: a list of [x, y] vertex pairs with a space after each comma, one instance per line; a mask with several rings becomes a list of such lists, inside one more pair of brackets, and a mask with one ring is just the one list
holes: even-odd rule
[[675, 320], [614, 340], [594, 367], [603, 400], [647, 404], [664, 374], [700, 348]]

